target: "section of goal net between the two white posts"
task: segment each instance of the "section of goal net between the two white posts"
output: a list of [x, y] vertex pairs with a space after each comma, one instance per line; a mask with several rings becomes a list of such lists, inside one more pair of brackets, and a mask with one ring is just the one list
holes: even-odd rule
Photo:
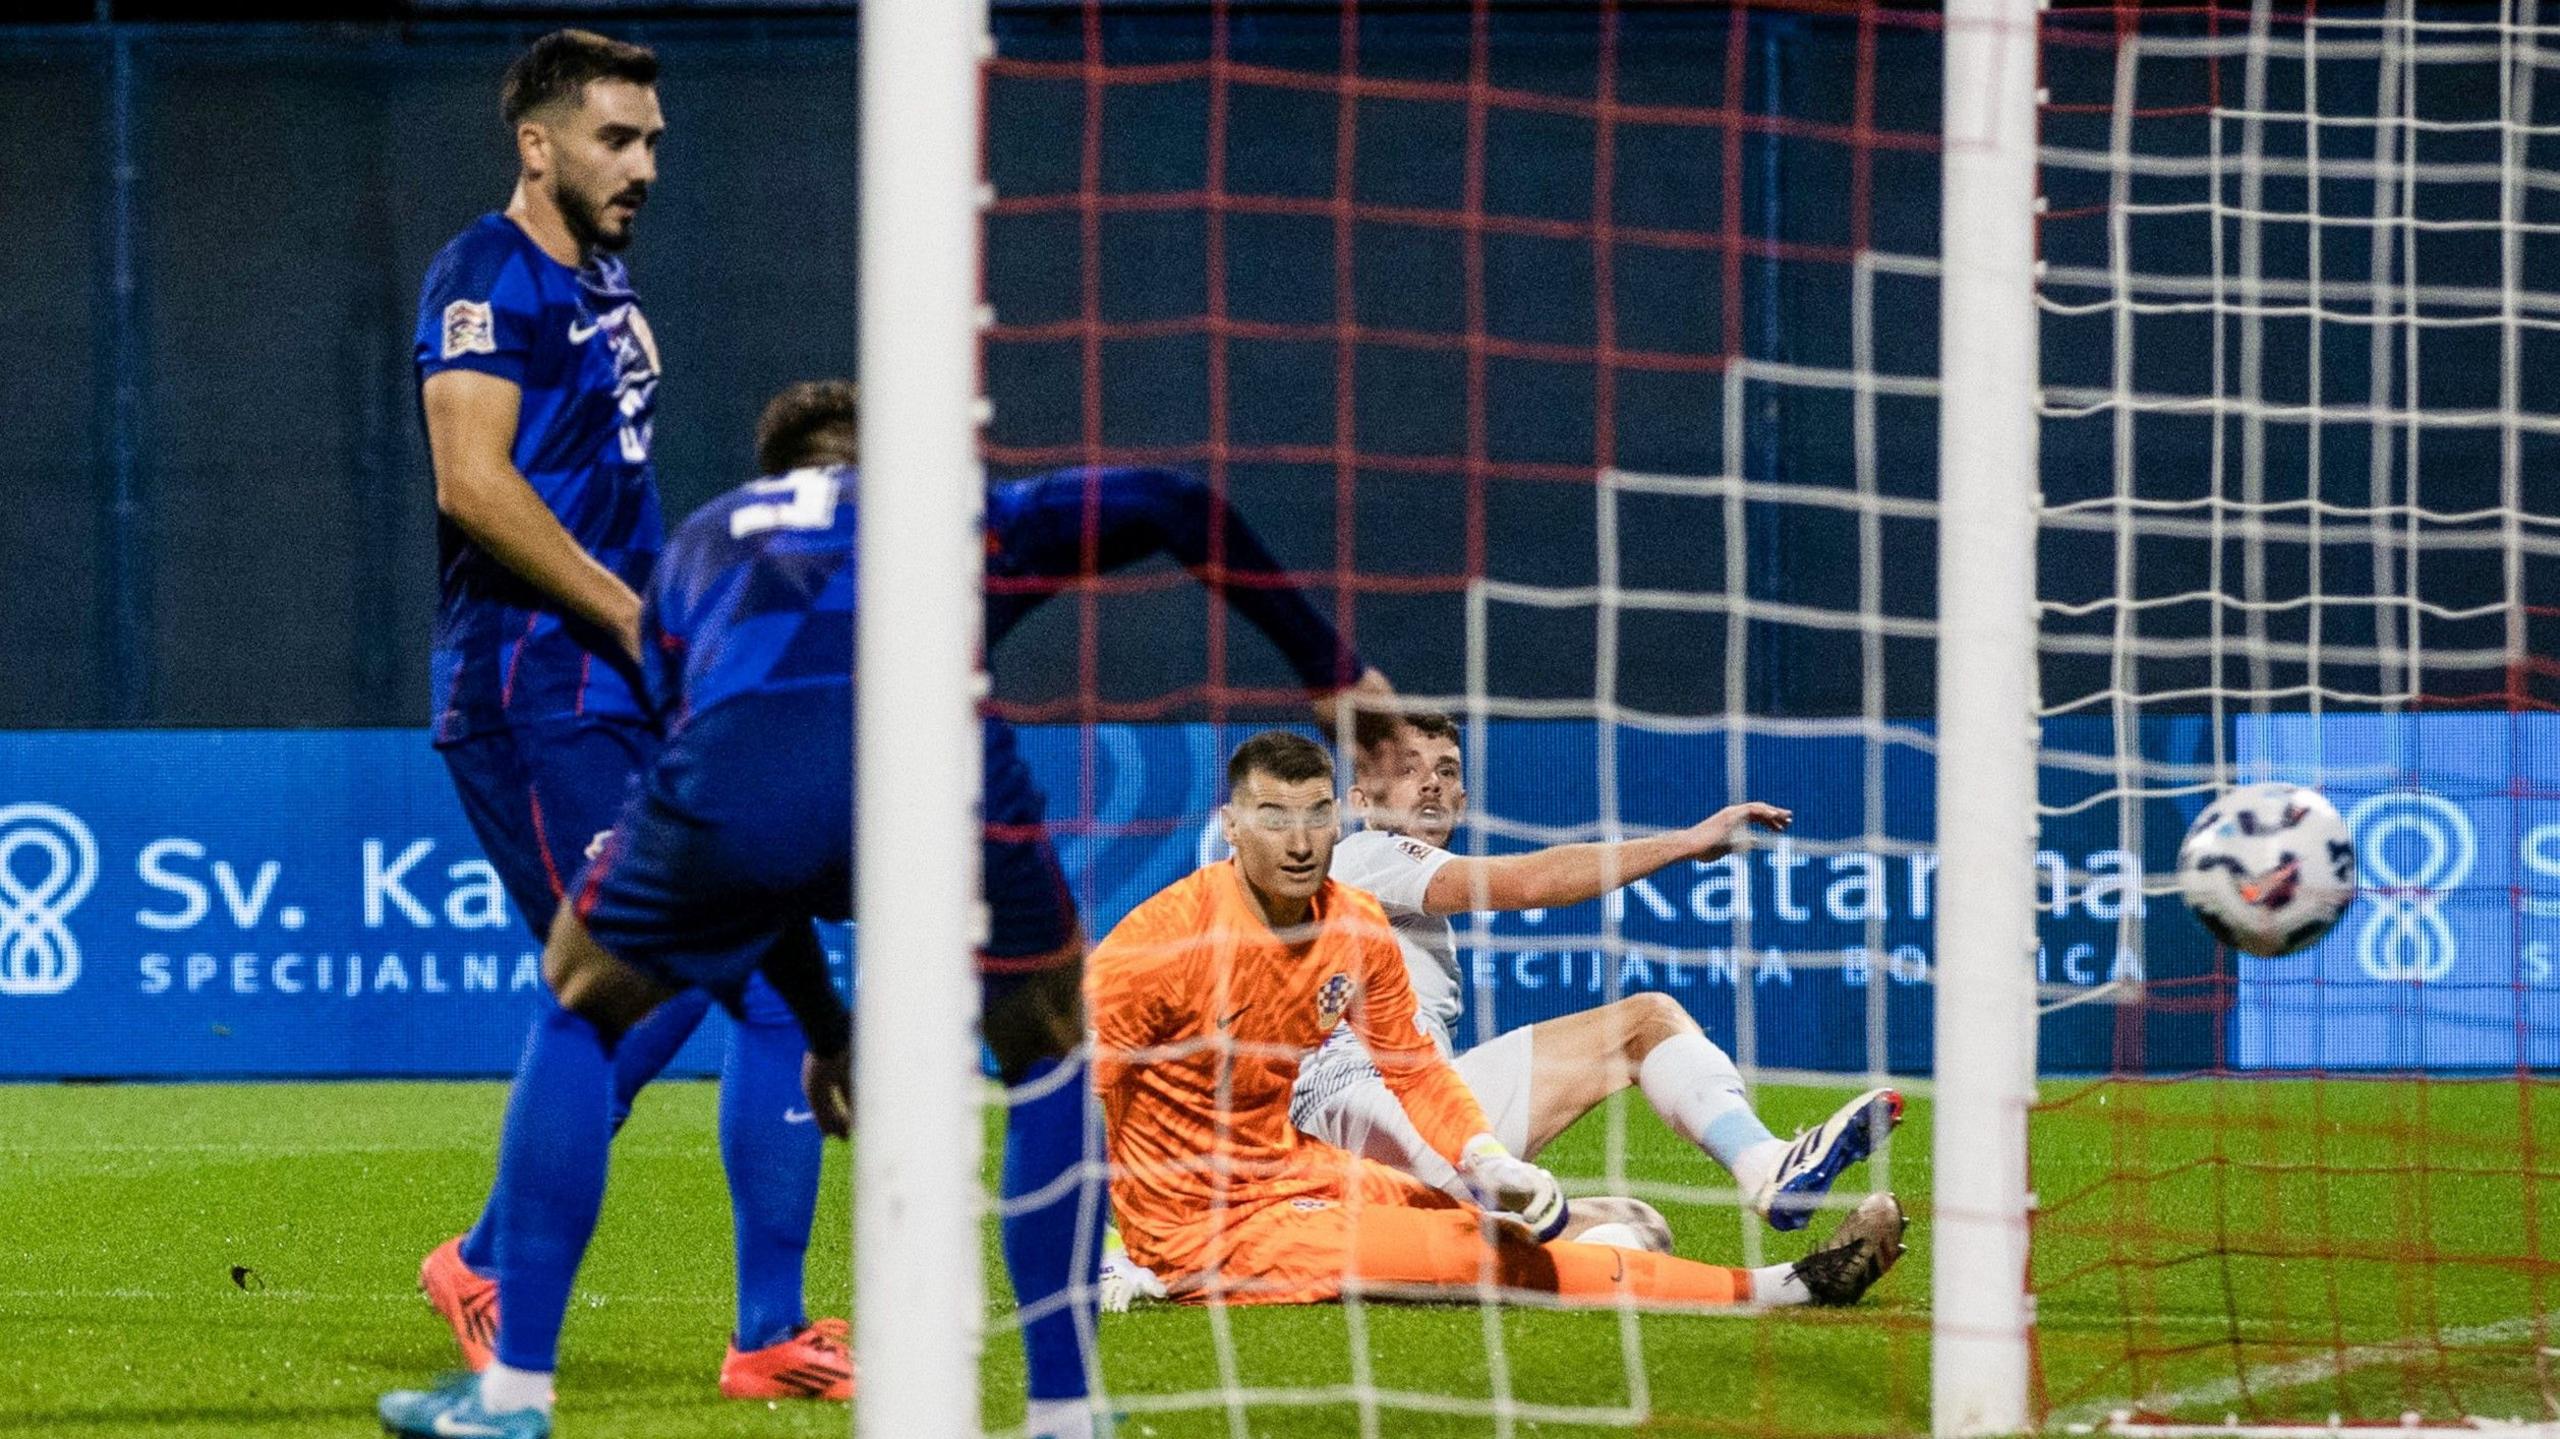
[[[1001, 474], [1201, 476], [1459, 720], [1462, 853], [1797, 809], [1784, 840], [1605, 901], [1459, 917], [1457, 1042], [1659, 993], [1782, 1134], [1920, 1073], [1930, 604], [1882, 556], [1928, 543], [1935, 282], [1871, 256], [1933, 248], [1928, 207], [1879, 200], [1935, 184], [1930, 26], [1088, 3], [996, 38]], [[1083, 581], [1016, 643], [998, 699], [1060, 776], [1101, 932], [1219, 853], [1226, 750], [1306, 709], [1170, 571]], [[1810, 1234], [1769, 1234], [1636, 1093], [1541, 1162], [1718, 1265], [1802, 1255], [1869, 1188], [1925, 1196], [1892, 1150]], [[1436, 1306], [1139, 1306], [1103, 1319], [1101, 1378], [1152, 1434], [1912, 1431], [1925, 1283], [1789, 1324], [1559, 1314], [1490, 1280]]]

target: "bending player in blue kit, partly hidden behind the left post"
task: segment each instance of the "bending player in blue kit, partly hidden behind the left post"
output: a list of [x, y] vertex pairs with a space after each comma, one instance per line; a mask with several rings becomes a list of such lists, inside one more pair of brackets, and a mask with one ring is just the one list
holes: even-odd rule
[[[614, 1052], [668, 996], [730, 999], [763, 976], [809, 1034], [806, 1091], [819, 1124], [832, 1134], [850, 1127], [850, 1029], [809, 922], [842, 919], [852, 901], [855, 453], [850, 384], [783, 392], [758, 438], [758, 461], [773, 474], [686, 520], [650, 584], [643, 653], [668, 743], [553, 922], [543, 968], [561, 1009], [535, 1032], [525, 1075], [561, 1101], [540, 1111], [543, 1145], [527, 1145], [522, 1160], [512, 1147], [502, 1155], [502, 1165], [520, 1165], [507, 1183], [548, 1193], [538, 1214], [584, 1224], [548, 1234], [553, 1267], [502, 1275], [509, 1331], [517, 1314], [553, 1324], [561, 1314], [604, 1196]], [[1201, 571], [1283, 648], [1318, 712], [1341, 689], [1364, 704], [1393, 702], [1385, 679], [1277, 581], [1280, 566], [1252, 530], [1188, 476], [1042, 476], [993, 486], [986, 515], [998, 581], [991, 645], [1078, 576], [1162, 553]], [[1206, 568], [1211, 556], [1221, 571]], [[980, 858], [991, 940], [980, 983], [983, 1037], [1019, 1096], [1006, 1116], [1006, 1198], [1098, 1160], [1080, 1057], [1083, 929], [1042, 809], [1011, 727], [988, 720]], [[1021, 1308], [1055, 1306], [1024, 1324], [1029, 1431], [1039, 1439], [1093, 1431], [1083, 1337], [1093, 1331], [1101, 1186], [1057, 1188], [1050, 1203], [1019, 1214], [1009, 1203], [1004, 1216]], [[550, 1434], [548, 1406], [471, 1378], [389, 1393], [381, 1419], [417, 1436]]]

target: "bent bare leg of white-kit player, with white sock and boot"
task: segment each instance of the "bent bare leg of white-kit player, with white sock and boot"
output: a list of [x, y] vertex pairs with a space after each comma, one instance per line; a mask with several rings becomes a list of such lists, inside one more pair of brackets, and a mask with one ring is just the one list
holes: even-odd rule
[[1741, 1070], [1667, 993], [1513, 1029], [1457, 1060], [1495, 1137], [1536, 1157], [1620, 1088], [1638, 1086], [1674, 1134], [1733, 1175], [1774, 1229], [1802, 1229], [1830, 1183], [1902, 1119], [1902, 1096], [1866, 1091], [1792, 1145], [1751, 1109]]

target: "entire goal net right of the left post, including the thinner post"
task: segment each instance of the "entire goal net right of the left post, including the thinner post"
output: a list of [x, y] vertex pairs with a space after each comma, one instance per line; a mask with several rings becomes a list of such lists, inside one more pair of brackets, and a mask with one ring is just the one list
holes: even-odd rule
[[[1459, 720], [1459, 853], [1795, 809], [1459, 917], [1459, 1045], [1659, 993], [1782, 1137], [1910, 1101], [1802, 1234], [1636, 1091], [1541, 1155], [1715, 1265], [1889, 1188], [1912, 1255], [1859, 1308], [1139, 1303], [1098, 1324], [1098, 1408], [2560, 1419], [2537, 36], [2529, 5], [998, 5], [991, 474], [1198, 476], [1285, 568], [1244, 584]], [[1234, 743], [1308, 712], [1219, 556], [1206, 589], [1088, 571], [991, 668], [1101, 937], [1219, 858]], [[2250, 778], [2363, 848], [2294, 958], [2176, 899], [2186, 824]], [[988, 1285], [983, 1421], [1016, 1434]]]

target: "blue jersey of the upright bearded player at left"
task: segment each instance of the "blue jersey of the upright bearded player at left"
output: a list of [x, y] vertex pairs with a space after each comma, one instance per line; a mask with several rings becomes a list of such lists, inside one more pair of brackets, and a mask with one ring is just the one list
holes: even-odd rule
[[[522, 389], [515, 469], [632, 589], [666, 525], [650, 469], [658, 346], [614, 256], [566, 266], [504, 215], [438, 251], [417, 297], [417, 382], [476, 369]], [[440, 522], [435, 740], [558, 720], [645, 717], [620, 643]]]

